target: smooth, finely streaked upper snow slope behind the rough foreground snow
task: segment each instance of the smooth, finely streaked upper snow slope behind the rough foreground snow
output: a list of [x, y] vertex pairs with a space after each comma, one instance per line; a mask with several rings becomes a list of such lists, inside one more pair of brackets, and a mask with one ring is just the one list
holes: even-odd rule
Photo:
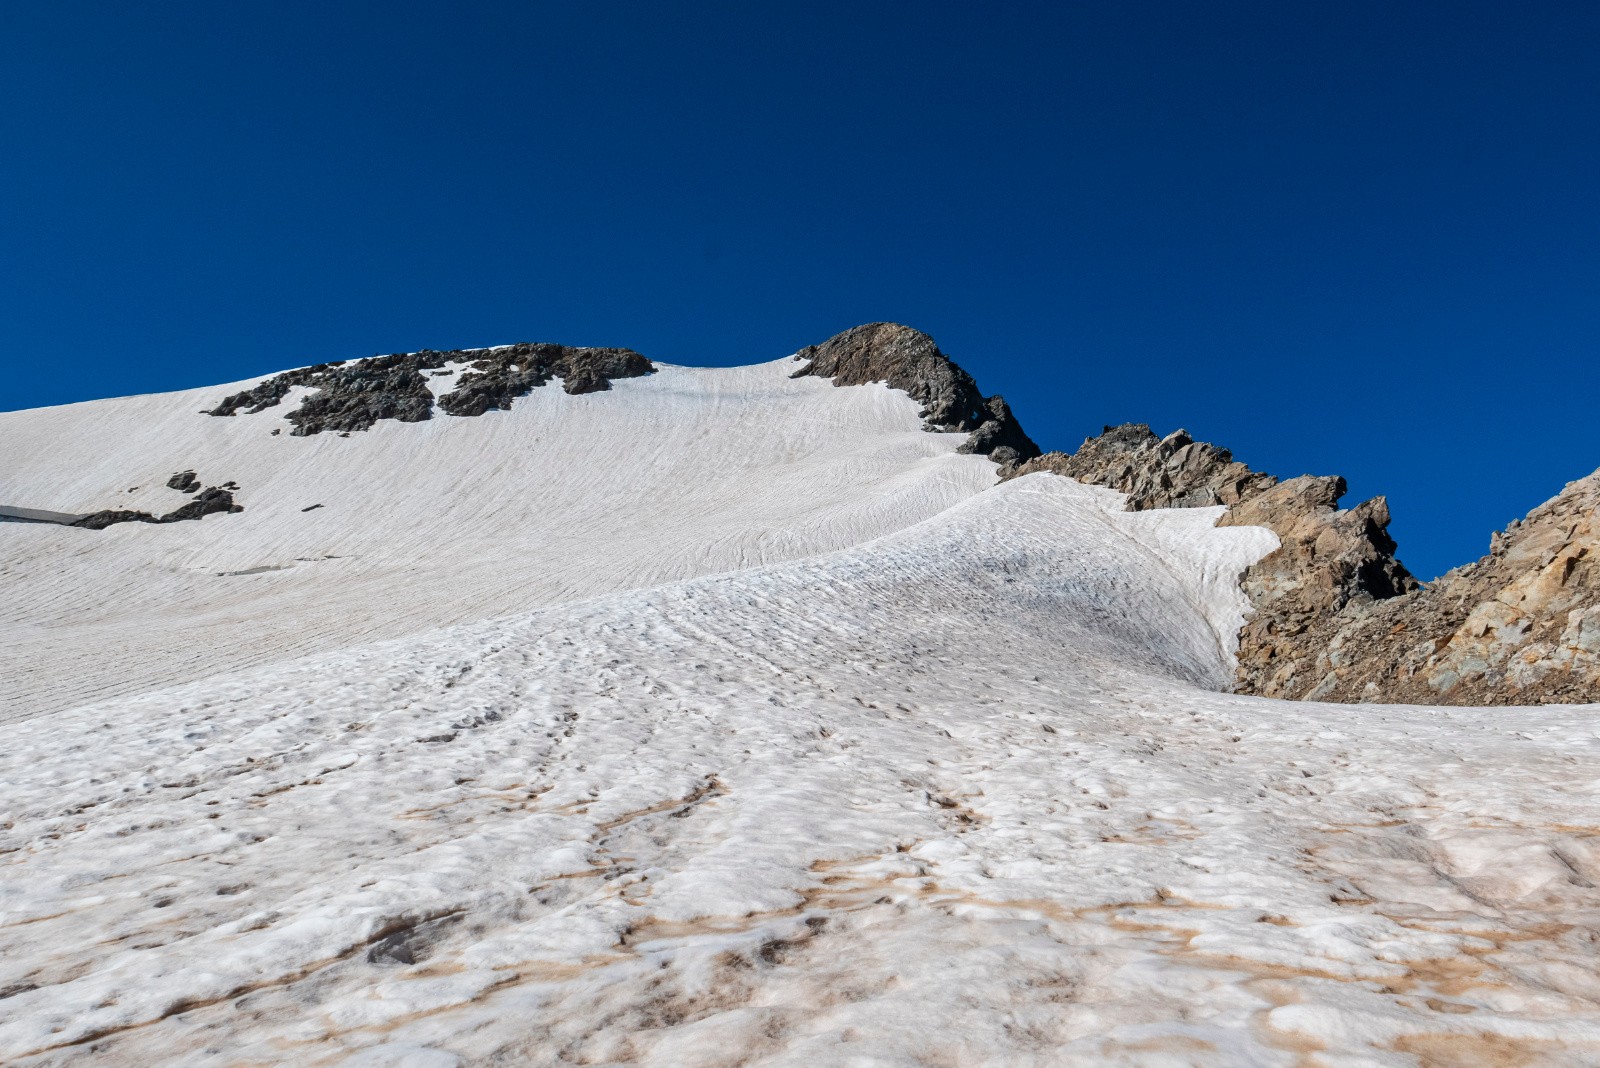
[[510, 411], [350, 436], [290, 436], [299, 392], [200, 414], [248, 384], [0, 414], [0, 505], [165, 513], [187, 499], [168, 478], [195, 470], [238, 483], [245, 507], [0, 526], [0, 721], [810, 556], [994, 483], [994, 464], [955, 454], [965, 435], [925, 433], [888, 387], [790, 379], [792, 360], [658, 366], [605, 393], [546, 387]]

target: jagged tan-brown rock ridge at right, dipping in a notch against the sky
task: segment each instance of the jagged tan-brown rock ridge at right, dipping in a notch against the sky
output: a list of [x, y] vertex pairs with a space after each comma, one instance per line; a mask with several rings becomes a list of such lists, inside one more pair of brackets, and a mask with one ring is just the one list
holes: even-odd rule
[[1178, 430], [1107, 427], [1003, 478], [1053, 472], [1128, 494], [1128, 508], [1226, 505], [1280, 547], [1242, 585], [1235, 689], [1344, 702], [1522, 705], [1600, 700], [1600, 472], [1496, 534], [1490, 553], [1419, 584], [1395, 558], [1382, 497], [1339, 508], [1346, 483], [1278, 481]]

